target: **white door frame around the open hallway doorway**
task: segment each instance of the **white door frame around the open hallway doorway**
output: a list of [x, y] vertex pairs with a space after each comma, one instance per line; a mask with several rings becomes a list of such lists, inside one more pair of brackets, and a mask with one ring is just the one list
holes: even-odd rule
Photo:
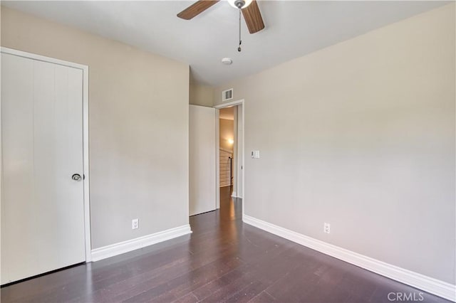
[[[244, 121], [245, 121], [245, 106], [244, 106], [244, 99], [240, 99], [240, 100], [236, 100], [236, 101], [232, 101], [232, 102], [227, 102], [227, 103], [222, 103], [222, 104], [219, 104], [219, 105], [214, 105], [214, 108], [217, 110], [217, 127], [216, 127], [216, 130], [217, 130], [217, 146], [216, 146], [216, 149], [217, 149], [217, 154], [216, 154], [216, 159], [217, 159], [217, 165], [216, 165], [216, 186], [217, 186], [217, 191], [216, 191], [216, 197], [217, 197], [217, 208], [220, 208], [220, 151], [219, 151], [219, 145], [220, 145], [220, 132], [219, 132], [219, 124], [220, 124], [220, 119], [219, 119], [219, 110], [221, 108], [224, 108], [224, 107], [233, 107], [233, 106], [237, 106], [237, 105], [240, 105], [242, 106], [242, 215], [244, 215], [244, 202], [245, 202], [245, 176], [244, 176], [244, 172], [245, 172], [245, 159], [244, 159], [244, 156], [245, 156], [245, 145], [244, 145], [244, 142], [245, 142], [245, 124], [244, 124]], [[239, 123], [239, 119], [238, 119], [238, 123]], [[237, 140], [239, 140], [239, 137], [237, 136]], [[238, 144], [237, 144], [238, 145]], [[239, 146], [239, 145], [238, 145]], [[238, 155], [239, 157], [239, 155]], [[239, 180], [238, 180], [239, 182]]]

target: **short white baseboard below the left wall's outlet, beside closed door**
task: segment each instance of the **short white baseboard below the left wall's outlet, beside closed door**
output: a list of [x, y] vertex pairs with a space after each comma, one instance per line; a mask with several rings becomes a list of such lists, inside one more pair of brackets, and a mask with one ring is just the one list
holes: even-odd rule
[[163, 230], [158, 233], [145, 235], [132, 240], [126, 240], [120, 243], [103, 246], [103, 248], [96, 248], [91, 252], [92, 261], [95, 262], [98, 260], [106, 259], [107, 257], [121, 255], [125, 252], [138, 250], [139, 248], [145, 248], [146, 246], [170, 240], [172, 238], [177, 238], [181, 235], [187, 235], [189, 233], [192, 233], [192, 230], [190, 230], [190, 225], [187, 224], [179, 226], [177, 228]]

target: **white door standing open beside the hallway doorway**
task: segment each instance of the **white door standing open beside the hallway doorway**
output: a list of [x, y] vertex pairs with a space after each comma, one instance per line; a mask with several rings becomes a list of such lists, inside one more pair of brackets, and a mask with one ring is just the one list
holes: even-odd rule
[[190, 105], [190, 216], [216, 208], [217, 113]]

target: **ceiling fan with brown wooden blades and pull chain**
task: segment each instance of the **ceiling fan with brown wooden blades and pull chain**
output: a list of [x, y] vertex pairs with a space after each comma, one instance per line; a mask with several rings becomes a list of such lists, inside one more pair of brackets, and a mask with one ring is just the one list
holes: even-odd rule
[[[181, 11], [177, 16], [179, 18], [190, 20], [191, 18], [198, 16], [203, 11], [209, 9], [209, 7], [217, 4], [220, 0], [199, 0], [191, 6]], [[235, 9], [239, 9], [239, 48], [241, 51], [241, 11], [244, 16], [245, 23], [249, 33], [257, 33], [264, 28], [263, 18], [259, 11], [257, 0], [227, 0], [231, 6]]]

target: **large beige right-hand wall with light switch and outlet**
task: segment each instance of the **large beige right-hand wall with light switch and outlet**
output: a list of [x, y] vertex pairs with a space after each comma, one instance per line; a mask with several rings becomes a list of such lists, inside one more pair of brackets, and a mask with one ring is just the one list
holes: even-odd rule
[[229, 87], [247, 215], [455, 284], [455, 4]]

